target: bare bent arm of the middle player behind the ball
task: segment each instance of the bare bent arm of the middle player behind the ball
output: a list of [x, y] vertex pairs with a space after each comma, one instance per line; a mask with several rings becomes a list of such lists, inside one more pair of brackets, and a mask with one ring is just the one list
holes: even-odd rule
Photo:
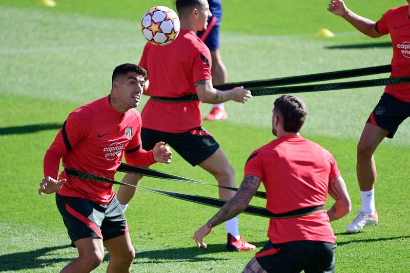
[[196, 93], [201, 102], [217, 104], [233, 100], [236, 102], [247, 102], [252, 98], [251, 91], [243, 87], [235, 87], [227, 91], [220, 91], [212, 86], [212, 80], [204, 79], [195, 82]]

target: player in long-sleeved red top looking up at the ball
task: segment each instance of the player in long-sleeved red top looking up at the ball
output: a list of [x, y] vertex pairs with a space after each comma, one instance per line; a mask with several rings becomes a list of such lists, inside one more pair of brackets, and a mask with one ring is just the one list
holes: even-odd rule
[[122, 153], [128, 163], [149, 166], [170, 163], [164, 142], [142, 149], [138, 106], [147, 72], [132, 64], [114, 69], [111, 93], [74, 110], [44, 157], [44, 179], [38, 194], [55, 193], [72, 246], [78, 257], [61, 272], [89, 272], [110, 253], [107, 272], [130, 272], [135, 250], [112, 184], [58, 175], [63, 166], [114, 179]]

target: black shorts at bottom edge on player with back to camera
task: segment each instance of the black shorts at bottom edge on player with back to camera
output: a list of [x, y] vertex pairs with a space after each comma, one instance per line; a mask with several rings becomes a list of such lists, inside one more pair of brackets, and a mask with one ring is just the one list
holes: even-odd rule
[[317, 241], [295, 241], [273, 244], [268, 241], [255, 255], [268, 272], [334, 272], [336, 244]]

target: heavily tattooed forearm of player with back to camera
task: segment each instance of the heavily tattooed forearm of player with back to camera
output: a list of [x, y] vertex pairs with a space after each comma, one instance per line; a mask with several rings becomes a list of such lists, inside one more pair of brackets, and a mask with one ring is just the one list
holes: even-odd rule
[[235, 217], [247, 208], [252, 197], [258, 190], [260, 181], [260, 178], [257, 176], [245, 176], [236, 195], [222, 206], [220, 211], [208, 221], [208, 224], [211, 226], [219, 225]]

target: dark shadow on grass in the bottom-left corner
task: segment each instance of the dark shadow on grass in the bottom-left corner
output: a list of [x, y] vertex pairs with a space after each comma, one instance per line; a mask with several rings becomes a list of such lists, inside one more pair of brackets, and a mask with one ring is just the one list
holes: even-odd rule
[[50, 251], [71, 248], [70, 245], [59, 245], [53, 247], [44, 247], [36, 250], [0, 255], [0, 272], [16, 271], [23, 269], [40, 268], [59, 262], [70, 262], [71, 258], [47, 258]]

